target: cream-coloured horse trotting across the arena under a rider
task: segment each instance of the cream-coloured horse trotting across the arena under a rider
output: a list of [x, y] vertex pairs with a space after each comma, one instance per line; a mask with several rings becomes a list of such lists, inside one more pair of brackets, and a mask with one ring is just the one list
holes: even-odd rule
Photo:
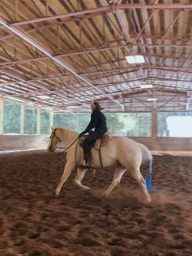
[[[79, 134], [75, 131], [71, 131], [63, 128], [52, 128], [50, 142], [47, 147], [49, 152], [56, 150], [59, 142], [65, 143], [66, 147], [69, 147], [75, 140], [77, 140]], [[77, 175], [75, 182], [82, 189], [90, 189], [87, 186], [81, 184], [84, 174], [87, 169], [79, 168], [79, 165], [83, 163], [83, 148], [77, 145], [78, 141], [72, 145], [72, 147], [67, 150], [67, 163], [65, 164], [64, 172], [61, 177], [60, 183], [56, 188], [56, 195], [60, 193], [63, 183], [67, 180], [68, 176], [77, 164]], [[104, 196], [108, 196], [109, 193], [115, 188], [117, 184], [120, 183], [122, 175], [126, 170], [128, 170], [134, 179], [138, 182], [147, 201], [150, 202], [150, 195], [147, 191], [147, 186], [145, 179], [140, 173], [140, 165], [145, 161], [149, 161], [150, 173], [152, 169], [152, 155], [147, 147], [143, 144], [131, 140], [127, 137], [116, 137], [109, 140], [108, 145], [101, 147], [102, 155], [102, 165], [103, 168], [115, 167], [115, 173], [113, 176], [113, 181], [109, 185], [108, 189], [104, 191]], [[92, 163], [100, 167], [99, 152], [92, 148]]]

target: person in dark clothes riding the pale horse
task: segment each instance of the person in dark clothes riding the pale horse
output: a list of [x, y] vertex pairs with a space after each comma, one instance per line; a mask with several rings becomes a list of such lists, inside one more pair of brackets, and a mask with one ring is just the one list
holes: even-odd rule
[[102, 108], [100, 107], [98, 102], [93, 102], [91, 104], [92, 108], [92, 115], [91, 120], [86, 129], [79, 134], [79, 138], [86, 134], [86, 132], [90, 132], [93, 128], [95, 128], [95, 131], [90, 132], [88, 134], [88, 137], [86, 137], [83, 140], [83, 153], [84, 153], [84, 160], [85, 163], [83, 163], [84, 167], [90, 166], [90, 162], [92, 159], [92, 144], [102, 137], [102, 134], [108, 131], [107, 125], [106, 125], [106, 116], [100, 111]]

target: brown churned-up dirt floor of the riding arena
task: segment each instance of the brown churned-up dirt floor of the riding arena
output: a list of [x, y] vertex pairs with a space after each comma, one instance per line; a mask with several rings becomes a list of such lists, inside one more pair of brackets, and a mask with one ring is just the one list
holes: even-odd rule
[[151, 204], [128, 172], [101, 200], [113, 170], [88, 172], [90, 192], [73, 172], [51, 198], [64, 164], [45, 150], [0, 155], [1, 256], [192, 255], [192, 157], [154, 156]]

